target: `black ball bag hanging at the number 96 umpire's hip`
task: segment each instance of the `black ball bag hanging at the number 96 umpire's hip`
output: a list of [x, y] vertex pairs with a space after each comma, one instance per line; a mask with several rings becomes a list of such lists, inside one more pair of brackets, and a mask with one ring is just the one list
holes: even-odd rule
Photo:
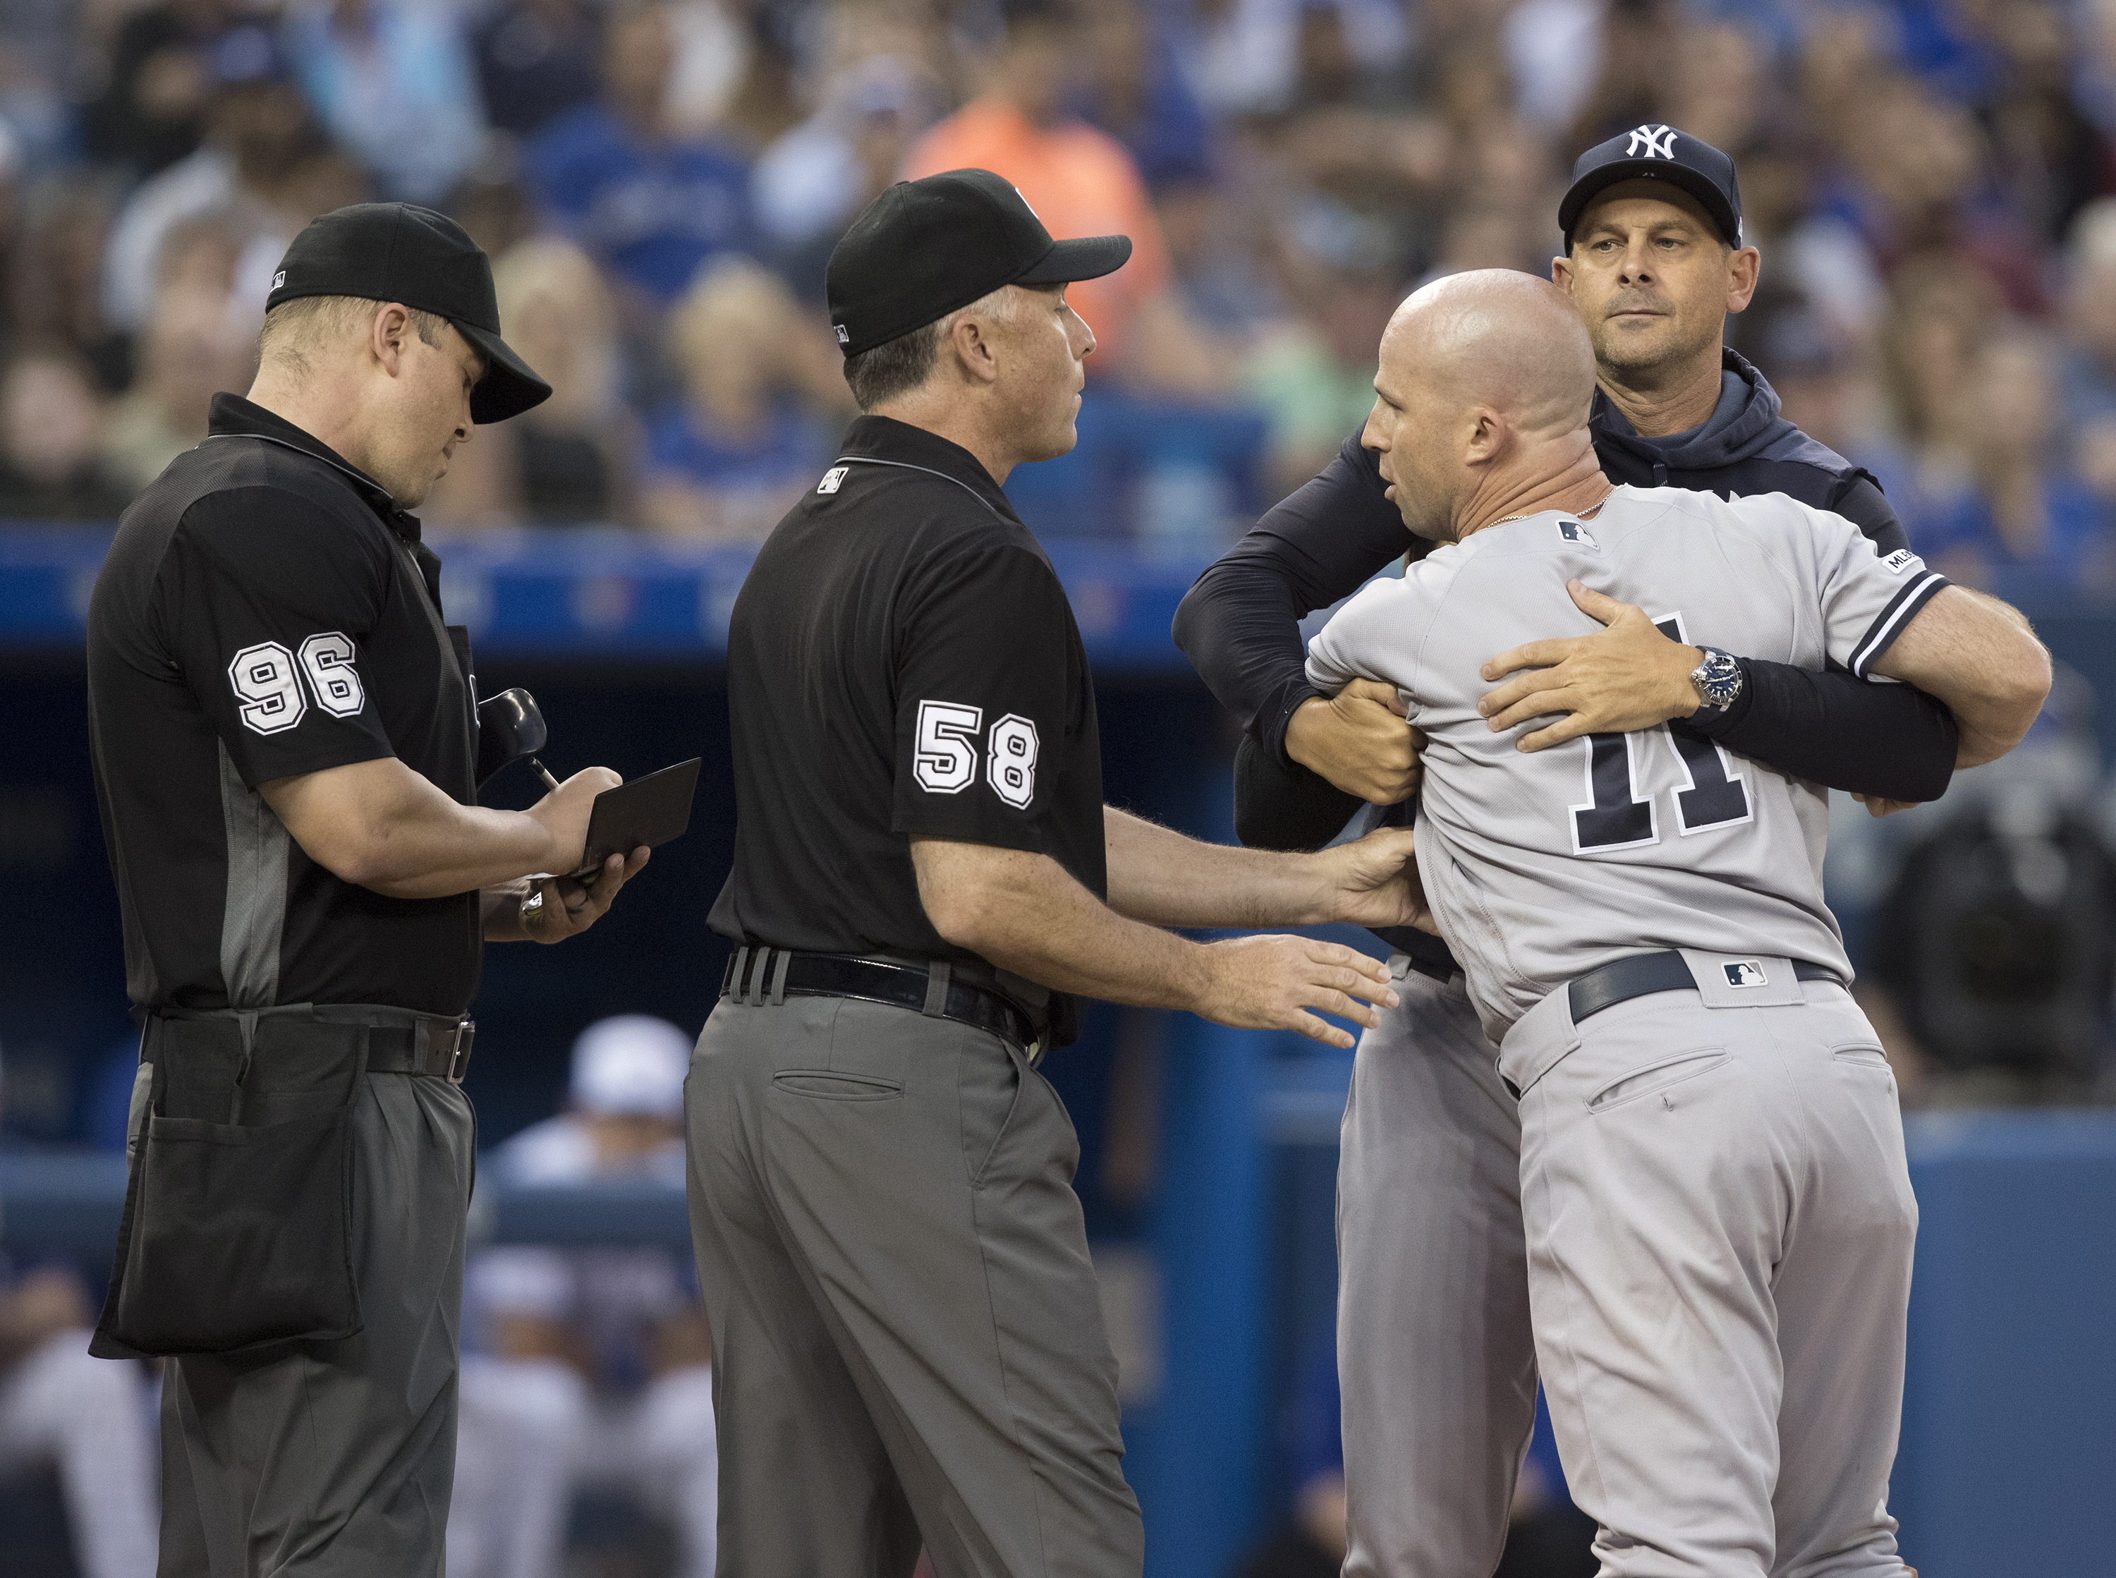
[[353, 1102], [368, 1032], [307, 1009], [148, 1020], [97, 1358], [360, 1333]]

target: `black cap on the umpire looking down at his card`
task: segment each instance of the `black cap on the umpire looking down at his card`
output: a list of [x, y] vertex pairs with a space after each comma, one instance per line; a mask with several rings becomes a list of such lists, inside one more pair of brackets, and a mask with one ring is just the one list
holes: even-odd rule
[[550, 400], [550, 385], [499, 338], [493, 262], [463, 226], [415, 203], [334, 207], [294, 237], [264, 311], [300, 296], [394, 300], [455, 324], [485, 353], [470, 419], [506, 421]]

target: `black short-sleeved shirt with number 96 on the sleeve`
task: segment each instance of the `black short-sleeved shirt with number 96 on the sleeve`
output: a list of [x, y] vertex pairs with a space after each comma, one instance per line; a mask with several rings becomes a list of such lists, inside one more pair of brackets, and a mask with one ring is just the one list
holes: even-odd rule
[[463, 1013], [478, 895], [385, 899], [303, 855], [256, 785], [400, 757], [476, 795], [470, 649], [419, 522], [237, 396], [118, 520], [89, 603], [89, 734], [135, 1013]]

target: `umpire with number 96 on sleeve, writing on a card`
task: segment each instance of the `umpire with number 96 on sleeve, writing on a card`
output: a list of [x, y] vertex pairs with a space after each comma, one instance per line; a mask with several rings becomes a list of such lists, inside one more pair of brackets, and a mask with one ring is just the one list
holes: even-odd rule
[[89, 726], [142, 1024], [131, 1189], [93, 1352], [161, 1354], [163, 1578], [438, 1578], [480, 941], [592, 893], [588, 768], [476, 804], [470, 647], [417, 506], [550, 387], [485, 254], [411, 205], [288, 250], [248, 400], [125, 512]]

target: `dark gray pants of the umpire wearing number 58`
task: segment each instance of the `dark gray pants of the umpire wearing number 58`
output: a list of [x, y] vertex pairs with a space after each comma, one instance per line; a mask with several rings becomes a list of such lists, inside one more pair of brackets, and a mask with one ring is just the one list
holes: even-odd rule
[[995, 1034], [722, 998], [686, 1085], [722, 1578], [1128, 1578], [1079, 1144]]

